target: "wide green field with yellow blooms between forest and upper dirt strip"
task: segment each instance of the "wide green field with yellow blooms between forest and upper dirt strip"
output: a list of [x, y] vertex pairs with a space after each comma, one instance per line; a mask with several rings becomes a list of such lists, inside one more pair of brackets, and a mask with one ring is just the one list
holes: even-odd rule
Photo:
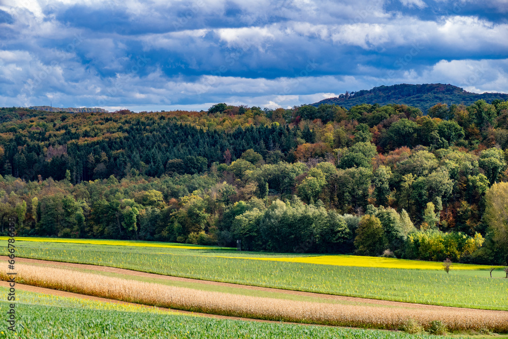
[[[17, 256], [99, 264], [139, 271], [307, 292], [508, 310], [508, 280], [487, 270], [394, 269], [223, 258], [231, 251], [128, 245], [17, 241]], [[5, 250], [4, 250], [5, 251]], [[5, 252], [4, 252], [5, 253]], [[280, 254], [233, 252], [234, 256]], [[295, 257], [295, 256], [293, 256]]]

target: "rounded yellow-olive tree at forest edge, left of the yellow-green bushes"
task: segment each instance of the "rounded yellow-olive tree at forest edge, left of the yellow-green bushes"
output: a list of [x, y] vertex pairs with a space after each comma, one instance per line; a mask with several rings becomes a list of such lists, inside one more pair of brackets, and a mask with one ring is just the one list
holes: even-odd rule
[[385, 231], [379, 219], [373, 215], [364, 215], [358, 224], [355, 237], [357, 252], [366, 256], [378, 256], [388, 245]]

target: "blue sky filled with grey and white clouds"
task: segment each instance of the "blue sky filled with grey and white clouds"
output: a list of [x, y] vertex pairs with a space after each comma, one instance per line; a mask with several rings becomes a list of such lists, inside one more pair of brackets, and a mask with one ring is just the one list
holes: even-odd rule
[[289, 108], [397, 83], [508, 93], [508, 0], [0, 0], [0, 106]]

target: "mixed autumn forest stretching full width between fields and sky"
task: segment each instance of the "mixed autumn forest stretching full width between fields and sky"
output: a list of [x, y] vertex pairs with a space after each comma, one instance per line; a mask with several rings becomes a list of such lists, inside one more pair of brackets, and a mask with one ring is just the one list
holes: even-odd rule
[[508, 264], [508, 101], [0, 109], [0, 222], [111, 238]]

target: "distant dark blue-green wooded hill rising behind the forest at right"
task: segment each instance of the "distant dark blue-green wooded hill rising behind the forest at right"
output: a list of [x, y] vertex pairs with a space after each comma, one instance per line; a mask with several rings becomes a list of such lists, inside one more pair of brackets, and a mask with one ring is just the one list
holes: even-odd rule
[[312, 104], [336, 104], [345, 108], [351, 108], [361, 104], [405, 104], [418, 107], [422, 112], [436, 104], [464, 104], [470, 105], [473, 102], [483, 99], [491, 103], [494, 99], [508, 100], [508, 94], [502, 93], [470, 93], [464, 89], [440, 83], [410, 85], [398, 84], [393, 86], [379, 86], [370, 90], [359, 90], [357, 92], [341, 94], [336, 98], [329, 98]]

